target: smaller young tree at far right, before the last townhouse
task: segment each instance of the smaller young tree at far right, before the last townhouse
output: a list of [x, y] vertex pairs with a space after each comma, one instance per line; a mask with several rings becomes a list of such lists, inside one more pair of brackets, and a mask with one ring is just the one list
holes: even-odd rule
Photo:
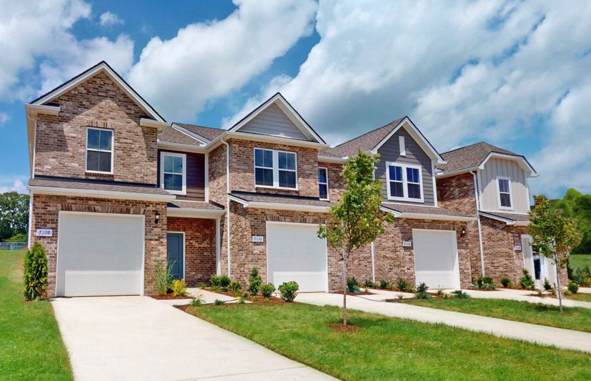
[[580, 244], [582, 235], [577, 231], [576, 222], [566, 218], [560, 209], [553, 209], [544, 195], [534, 196], [535, 208], [528, 212], [531, 246], [539, 254], [550, 258], [556, 267], [556, 285], [560, 311], [562, 312], [562, 291], [560, 270], [569, 262], [569, 253]]

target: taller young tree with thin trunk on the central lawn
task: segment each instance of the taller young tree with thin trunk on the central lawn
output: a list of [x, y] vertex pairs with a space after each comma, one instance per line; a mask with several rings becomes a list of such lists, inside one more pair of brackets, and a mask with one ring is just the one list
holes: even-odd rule
[[339, 203], [330, 207], [327, 224], [321, 224], [318, 237], [340, 252], [343, 261], [343, 324], [347, 325], [347, 277], [349, 258], [357, 249], [375, 241], [394, 221], [394, 215], [380, 210], [382, 184], [374, 178], [379, 155], [370, 156], [359, 150], [343, 166], [340, 176], [345, 180], [345, 191]]

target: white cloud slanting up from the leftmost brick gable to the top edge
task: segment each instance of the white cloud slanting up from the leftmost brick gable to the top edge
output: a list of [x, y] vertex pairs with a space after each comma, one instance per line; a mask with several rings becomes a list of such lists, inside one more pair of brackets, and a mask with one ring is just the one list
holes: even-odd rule
[[187, 25], [170, 40], [154, 37], [142, 50], [129, 82], [165, 116], [193, 118], [313, 30], [312, 0], [234, 3], [225, 19]]

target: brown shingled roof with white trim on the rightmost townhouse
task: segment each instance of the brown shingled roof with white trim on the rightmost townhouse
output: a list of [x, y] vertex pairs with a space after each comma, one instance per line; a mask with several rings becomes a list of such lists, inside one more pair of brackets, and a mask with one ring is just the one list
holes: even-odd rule
[[493, 146], [486, 142], [479, 142], [470, 144], [469, 146], [460, 147], [442, 153], [441, 156], [446, 160], [446, 163], [437, 166], [438, 169], [443, 170], [443, 172], [440, 172], [440, 176], [444, 176], [448, 173], [482, 169], [491, 157], [517, 160], [525, 170], [531, 172], [531, 176], [537, 176], [537, 172], [535, 172], [534, 167], [532, 167], [527, 159], [525, 159], [525, 156]]

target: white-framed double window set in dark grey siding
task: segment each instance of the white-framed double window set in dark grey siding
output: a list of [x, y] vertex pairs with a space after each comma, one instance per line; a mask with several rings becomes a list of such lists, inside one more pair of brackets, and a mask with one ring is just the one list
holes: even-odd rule
[[423, 174], [421, 166], [386, 163], [388, 199], [423, 202]]

